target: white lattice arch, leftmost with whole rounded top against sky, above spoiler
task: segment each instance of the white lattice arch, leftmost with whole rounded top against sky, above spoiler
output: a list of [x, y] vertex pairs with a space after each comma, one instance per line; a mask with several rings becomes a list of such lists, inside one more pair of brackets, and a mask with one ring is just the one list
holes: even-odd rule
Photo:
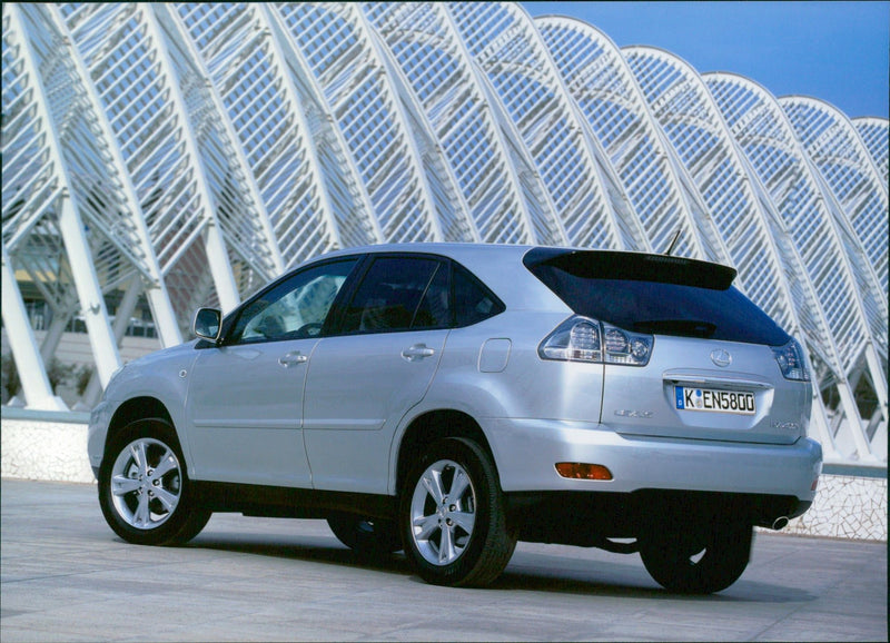
[[[571, 18], [535, 19], [565, 86], [600, 139], [653, 248], [731, 264], [698, 189], [650, 113], [617, 47]], [[686, 179], [685, 181], [683, 179]]]

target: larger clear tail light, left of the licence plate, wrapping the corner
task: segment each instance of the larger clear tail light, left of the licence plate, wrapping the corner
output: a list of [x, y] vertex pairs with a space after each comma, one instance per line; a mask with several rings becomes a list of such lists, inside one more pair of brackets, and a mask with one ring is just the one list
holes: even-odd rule
[[542, 359], [645, 366], [652, 355], [652, 335], [575, 316], [560, 324], [537, 347]]

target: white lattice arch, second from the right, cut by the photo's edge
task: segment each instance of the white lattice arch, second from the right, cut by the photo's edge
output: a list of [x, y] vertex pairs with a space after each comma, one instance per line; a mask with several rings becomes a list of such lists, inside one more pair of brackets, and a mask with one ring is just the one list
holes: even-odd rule
[[887, 181], [878, 175], [853, 125], [835, 108], [805, 96], [787, 96], [779, 99], [779, 105], [856, 230], [887, 305]]

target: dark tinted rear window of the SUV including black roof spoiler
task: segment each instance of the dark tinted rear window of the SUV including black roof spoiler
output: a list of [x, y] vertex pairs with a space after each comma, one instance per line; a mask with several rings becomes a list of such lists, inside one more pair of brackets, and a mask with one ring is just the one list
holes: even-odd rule
[[782, 346], [789, 336], [716, 264], [590, 250], [531, 250], [525, 266], [577, 315], [652, 335]]

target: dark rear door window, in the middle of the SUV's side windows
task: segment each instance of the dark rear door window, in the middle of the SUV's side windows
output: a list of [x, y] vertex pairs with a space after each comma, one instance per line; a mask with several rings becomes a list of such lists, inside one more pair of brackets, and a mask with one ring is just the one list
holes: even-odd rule
[[445, 327], [449, 316], [447, 284], [447, 265], [435, 259], [379, 257], [346, 308], [343, 332]]

